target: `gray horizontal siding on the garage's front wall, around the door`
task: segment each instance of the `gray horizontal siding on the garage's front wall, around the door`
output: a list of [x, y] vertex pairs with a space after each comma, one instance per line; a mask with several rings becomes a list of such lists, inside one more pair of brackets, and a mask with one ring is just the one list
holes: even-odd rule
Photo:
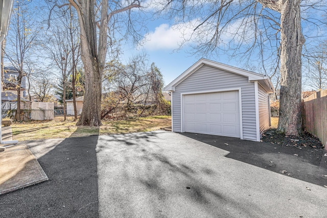
[[181, 132], [181, 93], [230, 88], [241, 88], [243, 139], [256, 140], [254, 83], [249, 83], [247, 77], [208, 65], [203, 65], [175, 86], [172, 96], [173, 131]]

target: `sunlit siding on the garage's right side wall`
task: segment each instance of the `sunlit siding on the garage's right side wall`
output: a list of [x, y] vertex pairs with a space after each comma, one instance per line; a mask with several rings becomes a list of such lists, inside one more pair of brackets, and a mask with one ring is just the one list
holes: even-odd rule
[[269, 115], [269, 94], [261, 86], [258, 85], [258, 102], [259, 102], [259, 126], [260, 134], [269, 128], [270, 126], [270, 115]]

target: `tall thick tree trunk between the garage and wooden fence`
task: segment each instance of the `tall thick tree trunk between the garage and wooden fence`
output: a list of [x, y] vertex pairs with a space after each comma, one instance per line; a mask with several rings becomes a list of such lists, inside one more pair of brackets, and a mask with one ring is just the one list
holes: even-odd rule
[[[281, 98], [279, 132], [301, 132], [301, 52], [305, 39], [301, 33], [300, 0], [281, 5]], [[296, 48], [296, 49], [295, 49]]]

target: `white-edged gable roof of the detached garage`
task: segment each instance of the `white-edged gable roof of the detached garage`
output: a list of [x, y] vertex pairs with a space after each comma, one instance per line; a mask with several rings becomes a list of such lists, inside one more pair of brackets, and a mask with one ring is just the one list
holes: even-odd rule
[[179, 83], [181, 83], [183, 80], [185, 80], [186, 78], [191, 76], [196, 70], [198, 70], [203, 65], [212, 66], [212, 67], [215, 67], [215, 68], [218, 68], [218, 69], [223, 69], [225, 71], [232, 72], [233, 74], [238, 74], [238, 75], [247, 77], [249, 82], [258, 81], [258, 83], [262, 87], [264, 87], [264, 89], [266, 89], [266, 91], [268, 93], [273, 93], [274, 92], [273, 85], [272, 85], [272, 83], [271, 83], [268, 76], [264, 76], [264, 75], [261, 75], [261, 74], [256, 74], [255, 72], [247, 71], [247, 70], [244, 70], [244, 69], [240, 69], [240, 68], [237, 68], [237, 67], [233, 67], [233, 66], [229, 66], [229, 65], [226, 65], [226, 64], [218, 63], [216, 61], [207, 60], [207, 59], [204, 59], [204, 58], [201, 58], [195, 64], [193, 64], [189, 69], [184, 71], [173, 82], [168, 84], [164, 88], [164, 90], [165, 91], [175, 91], [175, 87]]

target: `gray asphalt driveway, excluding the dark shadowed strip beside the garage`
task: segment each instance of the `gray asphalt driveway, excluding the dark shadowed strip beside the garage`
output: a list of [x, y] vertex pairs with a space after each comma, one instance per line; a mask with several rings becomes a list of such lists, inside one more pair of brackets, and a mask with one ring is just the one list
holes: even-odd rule
[[2, 217], [327, 217], [327, 188], [228, 158], [187, 135], [26, 144], [49, 181], [0, 196]]

